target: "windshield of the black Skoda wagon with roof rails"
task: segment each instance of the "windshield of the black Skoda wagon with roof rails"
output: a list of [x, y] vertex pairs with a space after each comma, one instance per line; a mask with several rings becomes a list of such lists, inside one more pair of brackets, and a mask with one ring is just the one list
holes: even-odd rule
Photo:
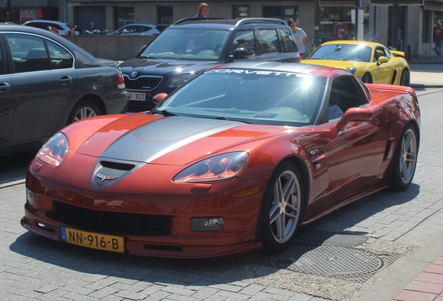
[[229, 31], [166, 29], [141, 53], [141, 58], [221, 61]]

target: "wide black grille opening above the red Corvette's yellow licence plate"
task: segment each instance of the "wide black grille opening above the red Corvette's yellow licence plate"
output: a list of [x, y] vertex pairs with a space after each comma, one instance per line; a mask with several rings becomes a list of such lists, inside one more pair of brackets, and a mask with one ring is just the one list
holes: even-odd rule
[[62, 222], [81, 224], [95, 231], [139, 236], [169, 234], [170, 218], [166, 215], [91, 210], [60, 201], [52, 201], [52, 213]]

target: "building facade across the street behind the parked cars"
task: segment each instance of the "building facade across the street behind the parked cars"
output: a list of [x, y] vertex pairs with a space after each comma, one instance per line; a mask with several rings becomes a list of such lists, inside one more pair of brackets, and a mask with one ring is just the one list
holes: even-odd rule
[[[210, 17], [276, 17], [283, 20], [292, 17], [309, 37], [307, 52], [313, 49], [317, 10], [320, 10], [319, 38], [322, 41], [375, 40], [404, 50], [410, 56], [433, 55], [433, 29], [443, 22], [443, 0], [205, 2], [210, 5]], [[172, 24], [195, 15], [199, 3], [201, 1], [189, 0], [6, 0], [0, 3], [0, 22], [22, 24], [36, 19], [59, 20], [77, 25], [77, 29], [83, 31], [114, 31], [130, 23]]]

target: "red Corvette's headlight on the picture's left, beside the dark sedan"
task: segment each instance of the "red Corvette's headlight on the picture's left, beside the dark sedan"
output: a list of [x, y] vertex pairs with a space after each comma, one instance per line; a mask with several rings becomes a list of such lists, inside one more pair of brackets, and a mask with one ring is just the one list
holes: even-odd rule
[[57, 167], [63, 161], [68, 148], [68, 138], [61, 132], [58, 132], [40, 148], [37, 157], [46, 164]]

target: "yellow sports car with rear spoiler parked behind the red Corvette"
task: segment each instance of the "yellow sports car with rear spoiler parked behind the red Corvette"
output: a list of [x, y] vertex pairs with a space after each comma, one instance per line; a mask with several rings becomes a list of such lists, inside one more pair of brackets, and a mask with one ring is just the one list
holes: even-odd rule
[[410, 85], [410, 68], [405, 52], [389, 50], [380, 43], [357, 40], [326, 42], [302, 63], [346, 69], [368, 84]]

